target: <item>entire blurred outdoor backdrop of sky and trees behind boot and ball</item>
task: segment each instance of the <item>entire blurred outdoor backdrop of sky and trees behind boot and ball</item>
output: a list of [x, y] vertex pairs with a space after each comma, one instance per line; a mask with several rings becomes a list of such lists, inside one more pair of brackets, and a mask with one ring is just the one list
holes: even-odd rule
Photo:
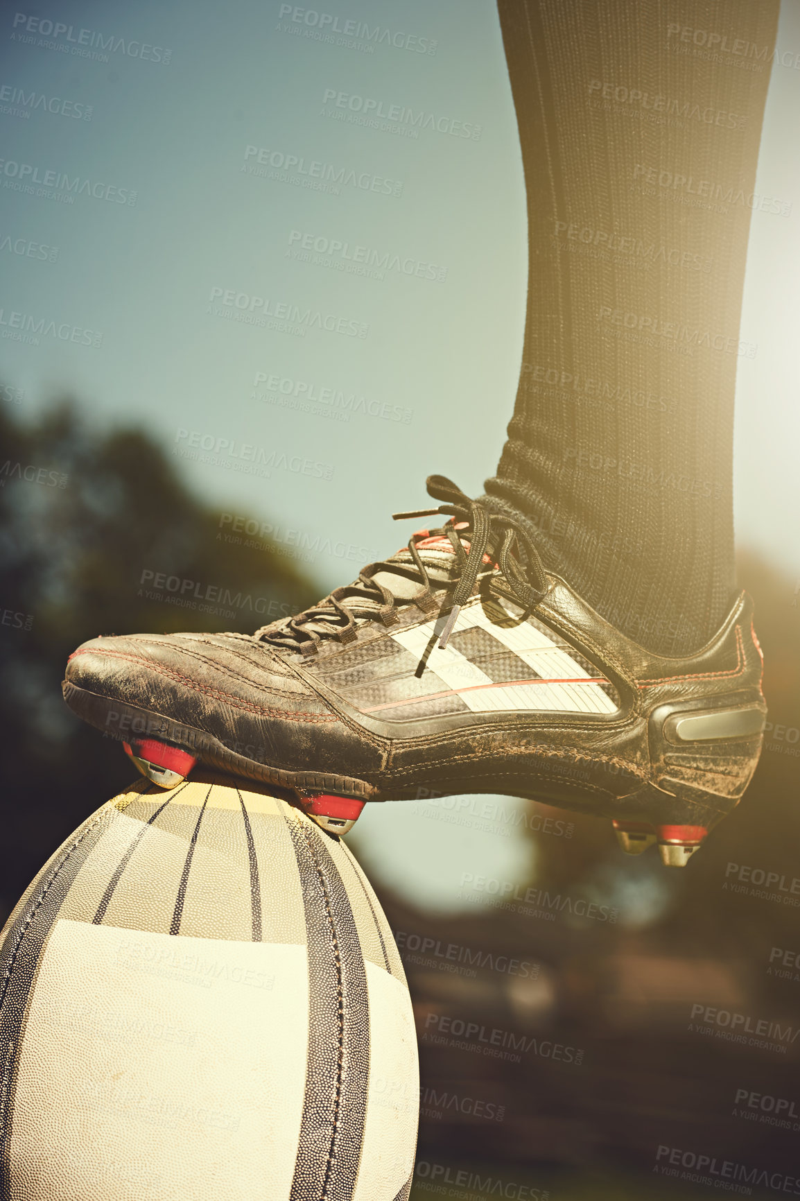
[[[527, 264], [488, 0], [12, 6], [0, 48], [5, 916], [131, 778], [64, 706], [67, 655], [98, 633], [251, 632], [396, 549], [390, 513], [424, 503], [426, 474], [477, 494]], [[753, 1196], [800, 1178], [793, 64], [798, 0], [757, 184], [787, 215], [753, 214], [741, 337], [758, 353], [736, 396], [762, 763], [682, 872], [513, 797], [368, 806], [350, 841], [418, 1018], [416, 1197], [704, 1196], [700, 1157], [744, 1165]], [[380, 115], [399, 110], [424, 116]]]

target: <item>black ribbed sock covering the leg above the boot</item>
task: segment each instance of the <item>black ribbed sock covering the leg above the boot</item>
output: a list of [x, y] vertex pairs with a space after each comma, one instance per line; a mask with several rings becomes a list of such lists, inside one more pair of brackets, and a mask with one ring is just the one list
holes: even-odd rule
[[733, 594], [733, 399], [778, 0], [498, 0], [530, 279], [486, 492], [628, 637], [702, 646]]

